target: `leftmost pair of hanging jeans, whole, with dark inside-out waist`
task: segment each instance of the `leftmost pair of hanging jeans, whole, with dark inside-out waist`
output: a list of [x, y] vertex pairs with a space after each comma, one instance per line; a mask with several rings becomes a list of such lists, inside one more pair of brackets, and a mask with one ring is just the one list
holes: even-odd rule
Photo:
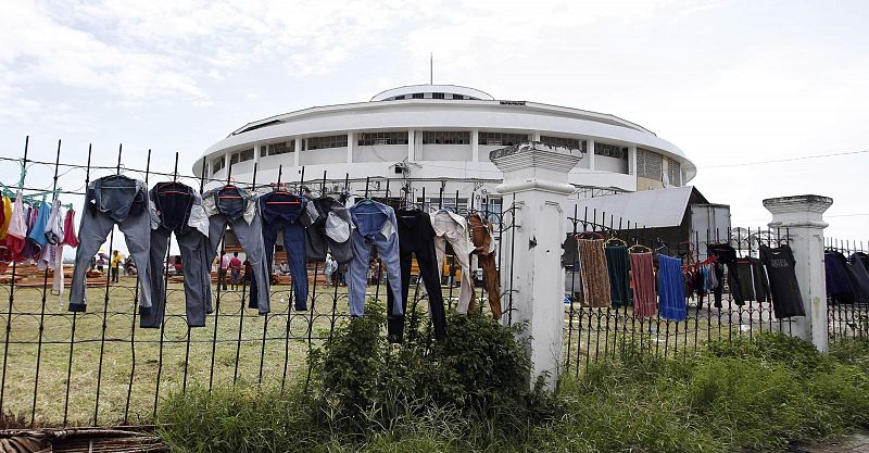
[[115, 225], [127, 242], [139, 272], [141, 293], [139, 311], [144, 315], [151, 310], [149, 261], [151, 249], [151, 216], [144, 184], [126, 176], [108, 176], [95, 180], [88, 187], [81, 224], [78, 227], [78, 249], [75, 253], [73, 280], [70, 285], [70, 311], [84, 312], [86, 273], [90, 259], [105, 241]]

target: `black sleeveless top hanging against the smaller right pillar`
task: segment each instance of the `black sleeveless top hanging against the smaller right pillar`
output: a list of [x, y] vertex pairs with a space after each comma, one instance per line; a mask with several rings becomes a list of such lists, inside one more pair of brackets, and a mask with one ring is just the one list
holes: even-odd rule
[[803, 295], [796, 281], [796, 260], [791, 247], [782, 244], [772, 249], [761, 244], [760, 262], [766, 265], [769, 275], [769, 290], [776, 317], [782, 319], [805, 316]]

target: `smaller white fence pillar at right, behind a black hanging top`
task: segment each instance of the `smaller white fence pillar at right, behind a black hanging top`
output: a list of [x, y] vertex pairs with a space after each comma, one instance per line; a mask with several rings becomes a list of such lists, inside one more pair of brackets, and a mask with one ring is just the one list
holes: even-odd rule
[[785, 229], [796, 260], [796, 281], [803, 295], [806, 316], [793, 318], [793, 335], [811, 341], [827, 352], [827, 280], [823, 268], [823, 213], [833, 199], [820, 196], [795, 196], [764, 200], [772, 213], [769, 227]]

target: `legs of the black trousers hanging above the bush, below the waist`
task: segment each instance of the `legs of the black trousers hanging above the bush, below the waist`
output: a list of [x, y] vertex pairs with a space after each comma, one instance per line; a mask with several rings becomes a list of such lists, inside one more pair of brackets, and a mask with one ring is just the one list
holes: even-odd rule
[[416, 262], [419, 265], [419, 276], [426, 286], [428, 293], [428, 310], [434, 326], [434, 338], [442, 340], [446, 338], [446, 313], [443, 309], [443, 293], [441, 291], [440, 272], [438, 269], [438, 257], [434, 254], [433, 238], [421, 239], [418, 250], [410, 247], [400, 246], [399, 260], [401, 263], [401, 305], [404, 316], [394, 316], [392, 306], [392, 291], [387, 291], [387, 313], [389, 318], [387, 327], [389, 341], [401, 343], [404, 341], [404, 318], [410, 316], [407, 313], [407, 293], [411, 287], [411, 264], [412, 257], [416, 254]]

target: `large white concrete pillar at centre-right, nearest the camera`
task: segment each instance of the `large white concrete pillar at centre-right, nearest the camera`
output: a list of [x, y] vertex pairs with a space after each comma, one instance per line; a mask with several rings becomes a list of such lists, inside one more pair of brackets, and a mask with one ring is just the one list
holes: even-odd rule
[[[502, 280], [507, 279], [503, 288], [512, 289], [502, 304], [506, 312], [512, 303], [513, 312], [502, 320], [528, 323], [530, 382], [546, 376], [546, 388], [554, 390], [564, 343], [562, 242], [567, 202], [574, 193], [568, 174], [581, 155], [566, 148], [524, 143], [492, 151], [489, 159], [504, 174], [496, 192], [505, 201], [515, 200], [516, 207], [516, 227], [507, 229], [503, 239], [507, 264], [501, 269]], [[513, 266], [512, 277], [507, 266]]]

